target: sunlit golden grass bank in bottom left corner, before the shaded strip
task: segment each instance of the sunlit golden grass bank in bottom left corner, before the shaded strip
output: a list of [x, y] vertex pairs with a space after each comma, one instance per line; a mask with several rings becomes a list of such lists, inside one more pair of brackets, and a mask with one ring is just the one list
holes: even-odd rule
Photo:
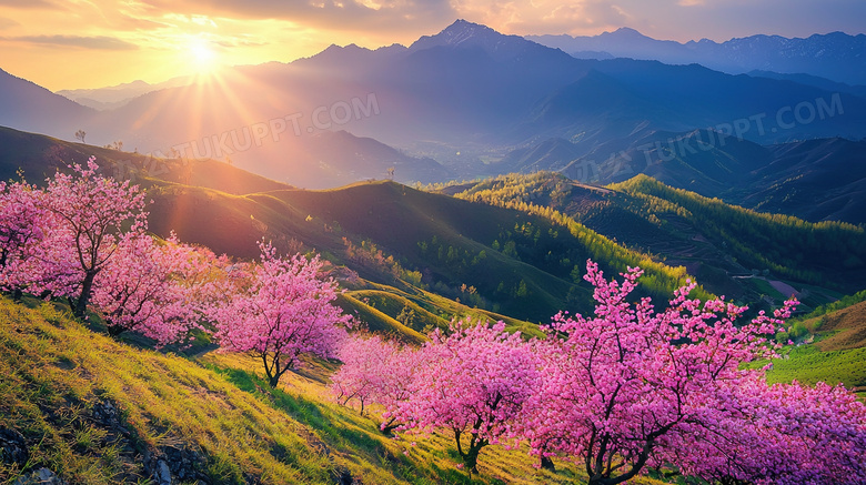
[[[46, 466], [71, 483], [145, 478], [141, 456], [183, 443], [204, 457], [216, 483], [328, 483], [330, 463], [298, 424], [241, 393], [220, 375], [175, 355], [119, 344], [70, 321], [51, 305], [28, 310], [0, 301], [0, 425], [31, 444], [30, 462], [4, 465], [2, 483]], [[128, 433], [94, 418], [113, 403]], [[285, 443], [291, 459], [270, 449]]]

